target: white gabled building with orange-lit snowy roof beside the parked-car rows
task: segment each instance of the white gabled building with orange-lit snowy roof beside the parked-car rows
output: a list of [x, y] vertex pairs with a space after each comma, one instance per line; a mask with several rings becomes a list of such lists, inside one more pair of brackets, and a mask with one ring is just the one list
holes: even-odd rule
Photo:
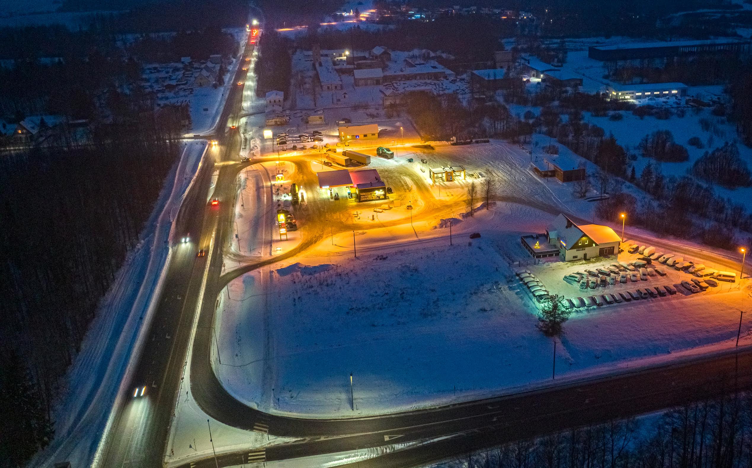
[[550, 245], [559, 247], [563, 261], [587, 260], [618, 255], [621, 238], [613, 229], [603, 225], [577, 225], [560, 214], [546, 231]]

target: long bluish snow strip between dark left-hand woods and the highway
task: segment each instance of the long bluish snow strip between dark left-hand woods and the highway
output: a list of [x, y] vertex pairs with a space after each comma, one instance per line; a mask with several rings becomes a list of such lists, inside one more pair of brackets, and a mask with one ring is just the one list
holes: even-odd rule
[[53, 415], [55, 438], [30, 466], [51, 466], [60, 460], [89, 466], [95, 458], [120, 385], [128, 380], [131, 357], [150, 322], [153, 299], [159, 296], [162, 272], [171, 255], [171, 228], [205, 149], [205, 141], [186, 143], [180, 162], [165, 180], [141, 243], [102, 299], [65, 378], [68, 394]]

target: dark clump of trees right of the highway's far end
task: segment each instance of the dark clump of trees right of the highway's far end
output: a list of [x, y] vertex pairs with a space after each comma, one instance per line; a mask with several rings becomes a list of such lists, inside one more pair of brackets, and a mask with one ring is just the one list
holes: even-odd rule
[[261, 35], [255, 68], [257, 96], [262, 98], [274, 90], [287, 95], [293, 73], [289, 47], [289, 41], [274, 30]]

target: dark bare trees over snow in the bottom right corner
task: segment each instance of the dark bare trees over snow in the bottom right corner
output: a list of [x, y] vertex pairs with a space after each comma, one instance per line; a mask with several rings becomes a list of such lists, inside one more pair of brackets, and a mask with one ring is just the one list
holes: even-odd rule
[[445, 468], [748, 468], [752, 397], [732, 394], [647, 421], [608, 421], [520, 440], [442, 463]]

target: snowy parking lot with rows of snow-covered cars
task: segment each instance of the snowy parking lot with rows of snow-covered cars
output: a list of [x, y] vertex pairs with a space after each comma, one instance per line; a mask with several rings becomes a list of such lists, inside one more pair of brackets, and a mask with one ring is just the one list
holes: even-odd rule
[[[656, 252], [644, 246], [650, 256], [640, 253], [627, 240], [618, 257], [590, 261], [553, 262], [530, 265], [517, 270], [517, 281], [526, 285], [536, 303], [559, 294], [566, 309], [618, 306], [633, 300], [672, 300], [696, 294], [729, 291], [737, 283], [724, 282], [703, 271], [717, 273], [712, 265], [696, 258], [671, 257], [672, 252]], [[651, 258], [652, 257], [652, 258]], [[676, 265], [683, 267], [678, 270]], [[695, 265], [698, 270], [690, 273]]]

